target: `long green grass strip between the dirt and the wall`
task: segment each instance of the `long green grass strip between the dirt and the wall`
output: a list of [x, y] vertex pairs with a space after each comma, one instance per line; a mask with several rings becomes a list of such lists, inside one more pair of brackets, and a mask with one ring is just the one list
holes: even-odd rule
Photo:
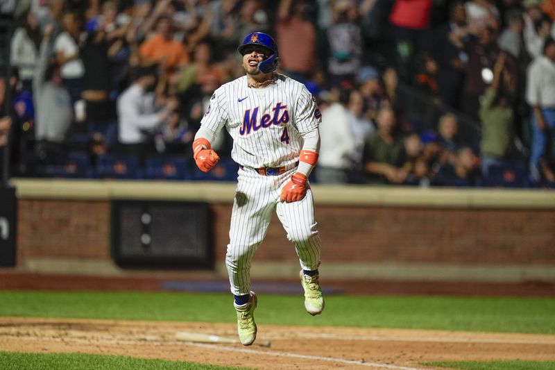
[[[0, 316], [154, 321], [236, 320], [230, 294], [0, 292]], [[302, 296], [259, 294], [257, 321], [285, 325], [555, 334], [555, 298], [327, 296], [311, 317]]]

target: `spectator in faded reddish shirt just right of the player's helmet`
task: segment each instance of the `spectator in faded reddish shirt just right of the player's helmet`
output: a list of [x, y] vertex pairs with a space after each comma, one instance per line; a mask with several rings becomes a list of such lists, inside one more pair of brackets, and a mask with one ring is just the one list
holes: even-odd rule
[[305, 8], [304, 1], [281, 0], [275, 25], [281, 68], [303, 83], [314, 71], [316, 51], [316, 27], [307, 19]]

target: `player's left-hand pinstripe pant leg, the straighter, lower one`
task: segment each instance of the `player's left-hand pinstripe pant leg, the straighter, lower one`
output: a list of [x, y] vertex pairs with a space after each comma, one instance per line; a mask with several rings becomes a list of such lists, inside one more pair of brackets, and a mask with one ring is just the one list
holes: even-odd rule
[[225, 266], [234, 295], [250, 292], [250, 261], [266, 236], [274, 210], [268, 178], [239, 170], [231, 215], [230, 243], [225, 255]]

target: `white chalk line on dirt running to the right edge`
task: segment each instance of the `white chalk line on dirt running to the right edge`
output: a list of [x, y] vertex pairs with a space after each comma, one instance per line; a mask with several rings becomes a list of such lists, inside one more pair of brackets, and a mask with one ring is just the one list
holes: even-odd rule
[[[555, 345], [554, 338], [546, 339], [511, 339], [511, 338], [453, 338], [453, 337], [400, 337], [380, 335], [337, 335], [337, 334], [311, 334], [298, 333], [296, 337], [309, 339], [335, 339], [354, 341], [379, 341], [379, 342], [438, 342], [438, 343], [495, 343], [495, 344], [547, 344]], [[278, 339], [278, 338], [276, 338]], [[292, 338], [287, 338], [292, 339]]]

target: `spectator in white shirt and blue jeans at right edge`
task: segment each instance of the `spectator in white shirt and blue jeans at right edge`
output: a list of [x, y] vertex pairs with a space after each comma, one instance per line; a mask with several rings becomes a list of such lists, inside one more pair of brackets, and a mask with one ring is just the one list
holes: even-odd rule
[[533, 180], [541, 180], [540, 162], [552, 148], [547, 137], [555, 137], [555, 40], [547, 37], [543, 55], [528, 69], [527, 101], [532, 108], [532, 144], [530, 171]]

